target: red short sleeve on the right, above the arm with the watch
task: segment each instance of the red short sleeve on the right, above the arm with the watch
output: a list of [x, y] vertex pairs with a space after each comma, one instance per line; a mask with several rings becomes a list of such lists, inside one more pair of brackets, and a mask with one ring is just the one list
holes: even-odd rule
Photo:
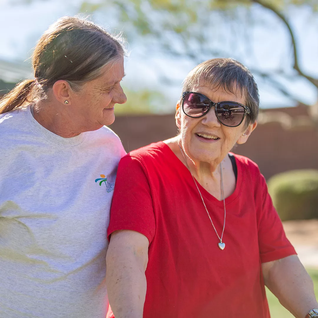
[[268, 193], [265, 178], [261, 176], [262, 210], [259, 215], [259, 252], [262, 263], [296, 254], [286, 237], [283, 225]]

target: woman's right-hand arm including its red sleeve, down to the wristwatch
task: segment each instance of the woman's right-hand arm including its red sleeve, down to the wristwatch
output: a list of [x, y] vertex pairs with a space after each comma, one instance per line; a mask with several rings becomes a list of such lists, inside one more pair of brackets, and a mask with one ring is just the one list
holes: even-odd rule
[[309, 310], [317, 307], [313, 281], [286, 238], [264, 177], [259, 186], [263, 205], [258, 237], [265, 285], [295, 317], [305, 318]]

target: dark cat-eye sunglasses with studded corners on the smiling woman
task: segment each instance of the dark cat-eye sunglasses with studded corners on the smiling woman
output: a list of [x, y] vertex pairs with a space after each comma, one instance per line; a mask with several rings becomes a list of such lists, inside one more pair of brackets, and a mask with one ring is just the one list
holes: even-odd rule
[[239, 126], [250, 109], [234, 101], [212, 102], [208, 97], [196, 92], [182, 93], [183, 113], [192, 118], [204, 116], [212, 107], [215, 107], [215, 114], [218, 121], [227, 127]]

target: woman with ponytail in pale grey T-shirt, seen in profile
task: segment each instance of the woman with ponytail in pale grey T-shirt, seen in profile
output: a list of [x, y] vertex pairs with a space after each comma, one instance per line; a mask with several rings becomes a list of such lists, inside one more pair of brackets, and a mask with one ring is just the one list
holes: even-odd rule
[[121, 43], [63, 17], [35, 47], [35, 79], [0, 100], [0, 317], [106, 316], [106, 232], [125, 151], [105, 125], [126, 101]]

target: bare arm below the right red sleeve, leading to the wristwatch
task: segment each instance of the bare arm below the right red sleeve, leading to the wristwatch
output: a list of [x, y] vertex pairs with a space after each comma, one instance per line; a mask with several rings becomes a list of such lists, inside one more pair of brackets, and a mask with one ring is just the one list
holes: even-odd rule
[[314, 284], [296, 255], [262, 264], [265, 285], [296, 318], [318, 308]]

